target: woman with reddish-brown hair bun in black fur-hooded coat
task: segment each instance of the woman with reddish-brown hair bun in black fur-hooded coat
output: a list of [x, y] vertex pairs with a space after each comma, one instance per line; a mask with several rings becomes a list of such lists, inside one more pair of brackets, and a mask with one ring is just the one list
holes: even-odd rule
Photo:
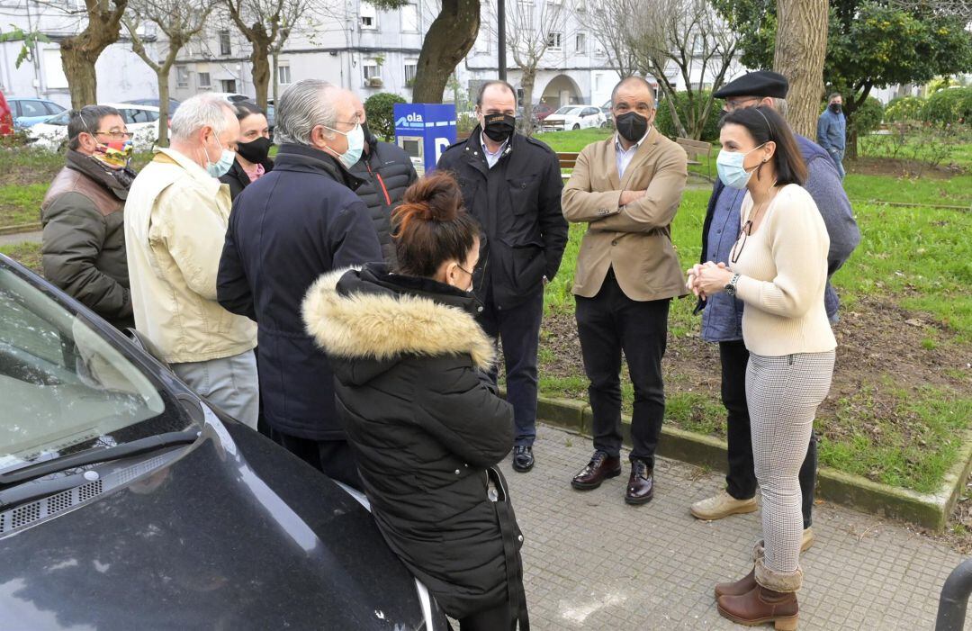
[[525, 631], [523, 536], [496, 467], [513, 410], [486, 376], [495, 346], [471, 293], [479, 227], [434, 173], [405, 192], [392, 233], [398, 267], [322, 276], [304, 322], [385, 540], [462, 631]]

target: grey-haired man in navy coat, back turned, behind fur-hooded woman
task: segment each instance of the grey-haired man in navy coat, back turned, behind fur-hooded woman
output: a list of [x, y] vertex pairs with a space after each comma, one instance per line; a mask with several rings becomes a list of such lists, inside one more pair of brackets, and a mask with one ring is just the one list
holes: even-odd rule
[[[182, 106], [180, 106], [182, 111]], [[364, 133], [354, 95], [326, 82], [288, 88], [277, 104], [273, 170], [237, 195], [218, 296], [259, 326], [263, 416], [280, 442], [330, 477], [361, 487], [334, 407], [333, 375], [304, 330], [301, 303], [323, 274], [382, 261], [349, 168]]]

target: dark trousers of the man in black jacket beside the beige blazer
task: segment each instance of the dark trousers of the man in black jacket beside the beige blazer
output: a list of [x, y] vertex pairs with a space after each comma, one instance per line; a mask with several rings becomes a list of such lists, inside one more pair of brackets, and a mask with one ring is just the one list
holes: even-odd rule
[[[532, 445], [537, 438], [537, 351], [543, 319], [543, 286], [539, 285], [516, 306], [501, 309], [492, 292], [483, 299], [476, 321], [487, 335], [503, 341], [506, 367], [506, 401], [513, 406], [516, 444]], [[497, 380], [494, 368], [489, 375]]]

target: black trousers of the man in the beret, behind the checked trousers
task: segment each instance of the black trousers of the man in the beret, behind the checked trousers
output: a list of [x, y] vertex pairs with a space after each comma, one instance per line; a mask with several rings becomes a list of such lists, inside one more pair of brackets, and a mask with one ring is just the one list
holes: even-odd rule
[[[726, 491], [737, 500], [756, 495], [756, 473], [752, 464], [752, 436], [749, 406], [746, 403], [746, 364], [749, 351], [743, 340], [719, 342], [722, 362], [722, 404], [725, 405], [726, 438], [729, 442], [729, 473]], [[800, 493], [803, 495], [803, 527], [813, 523], [816, 487], [816, 435], [811, 433], [807, 457], [800, 467]]]

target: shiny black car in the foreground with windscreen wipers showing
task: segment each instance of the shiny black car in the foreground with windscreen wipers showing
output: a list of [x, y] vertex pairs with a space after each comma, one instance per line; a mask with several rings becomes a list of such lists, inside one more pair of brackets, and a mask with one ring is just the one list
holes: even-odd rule
[[0, 255], [0, 628], [443, 631], [361, 494]]

